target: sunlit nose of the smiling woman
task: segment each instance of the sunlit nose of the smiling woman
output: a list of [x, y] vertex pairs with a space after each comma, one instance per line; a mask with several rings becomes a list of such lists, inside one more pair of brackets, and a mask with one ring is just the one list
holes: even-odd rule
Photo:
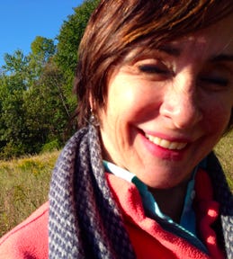
[[176, 129], [191, 129], [202, 121], [201, 102], [193, 77], [183, 76], [167, 87], [160, 114]]

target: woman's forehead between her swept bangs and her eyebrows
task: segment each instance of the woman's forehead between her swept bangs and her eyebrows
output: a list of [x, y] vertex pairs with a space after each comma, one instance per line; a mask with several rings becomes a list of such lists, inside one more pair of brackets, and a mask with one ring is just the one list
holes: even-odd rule
[[[119, 60], [118, 66], [129, 65], [131, 62], [141, 58], [157, 57], [157, 51], [162, 50], [164, 53], [181, 57], [184, 55], [190, 60], [205, 62], [216, 60], [224, 56], [224, 60], [233, 57], [233, 15], [216, 22], [213, 25], [187, 34], [183, 37], [177, 37], [175, 40], [166, 41], [157, 44], [156, 36], [154, 42], [139, 42], [125, 56]], [[227, 56], [228, 58], [226, 58]]]

